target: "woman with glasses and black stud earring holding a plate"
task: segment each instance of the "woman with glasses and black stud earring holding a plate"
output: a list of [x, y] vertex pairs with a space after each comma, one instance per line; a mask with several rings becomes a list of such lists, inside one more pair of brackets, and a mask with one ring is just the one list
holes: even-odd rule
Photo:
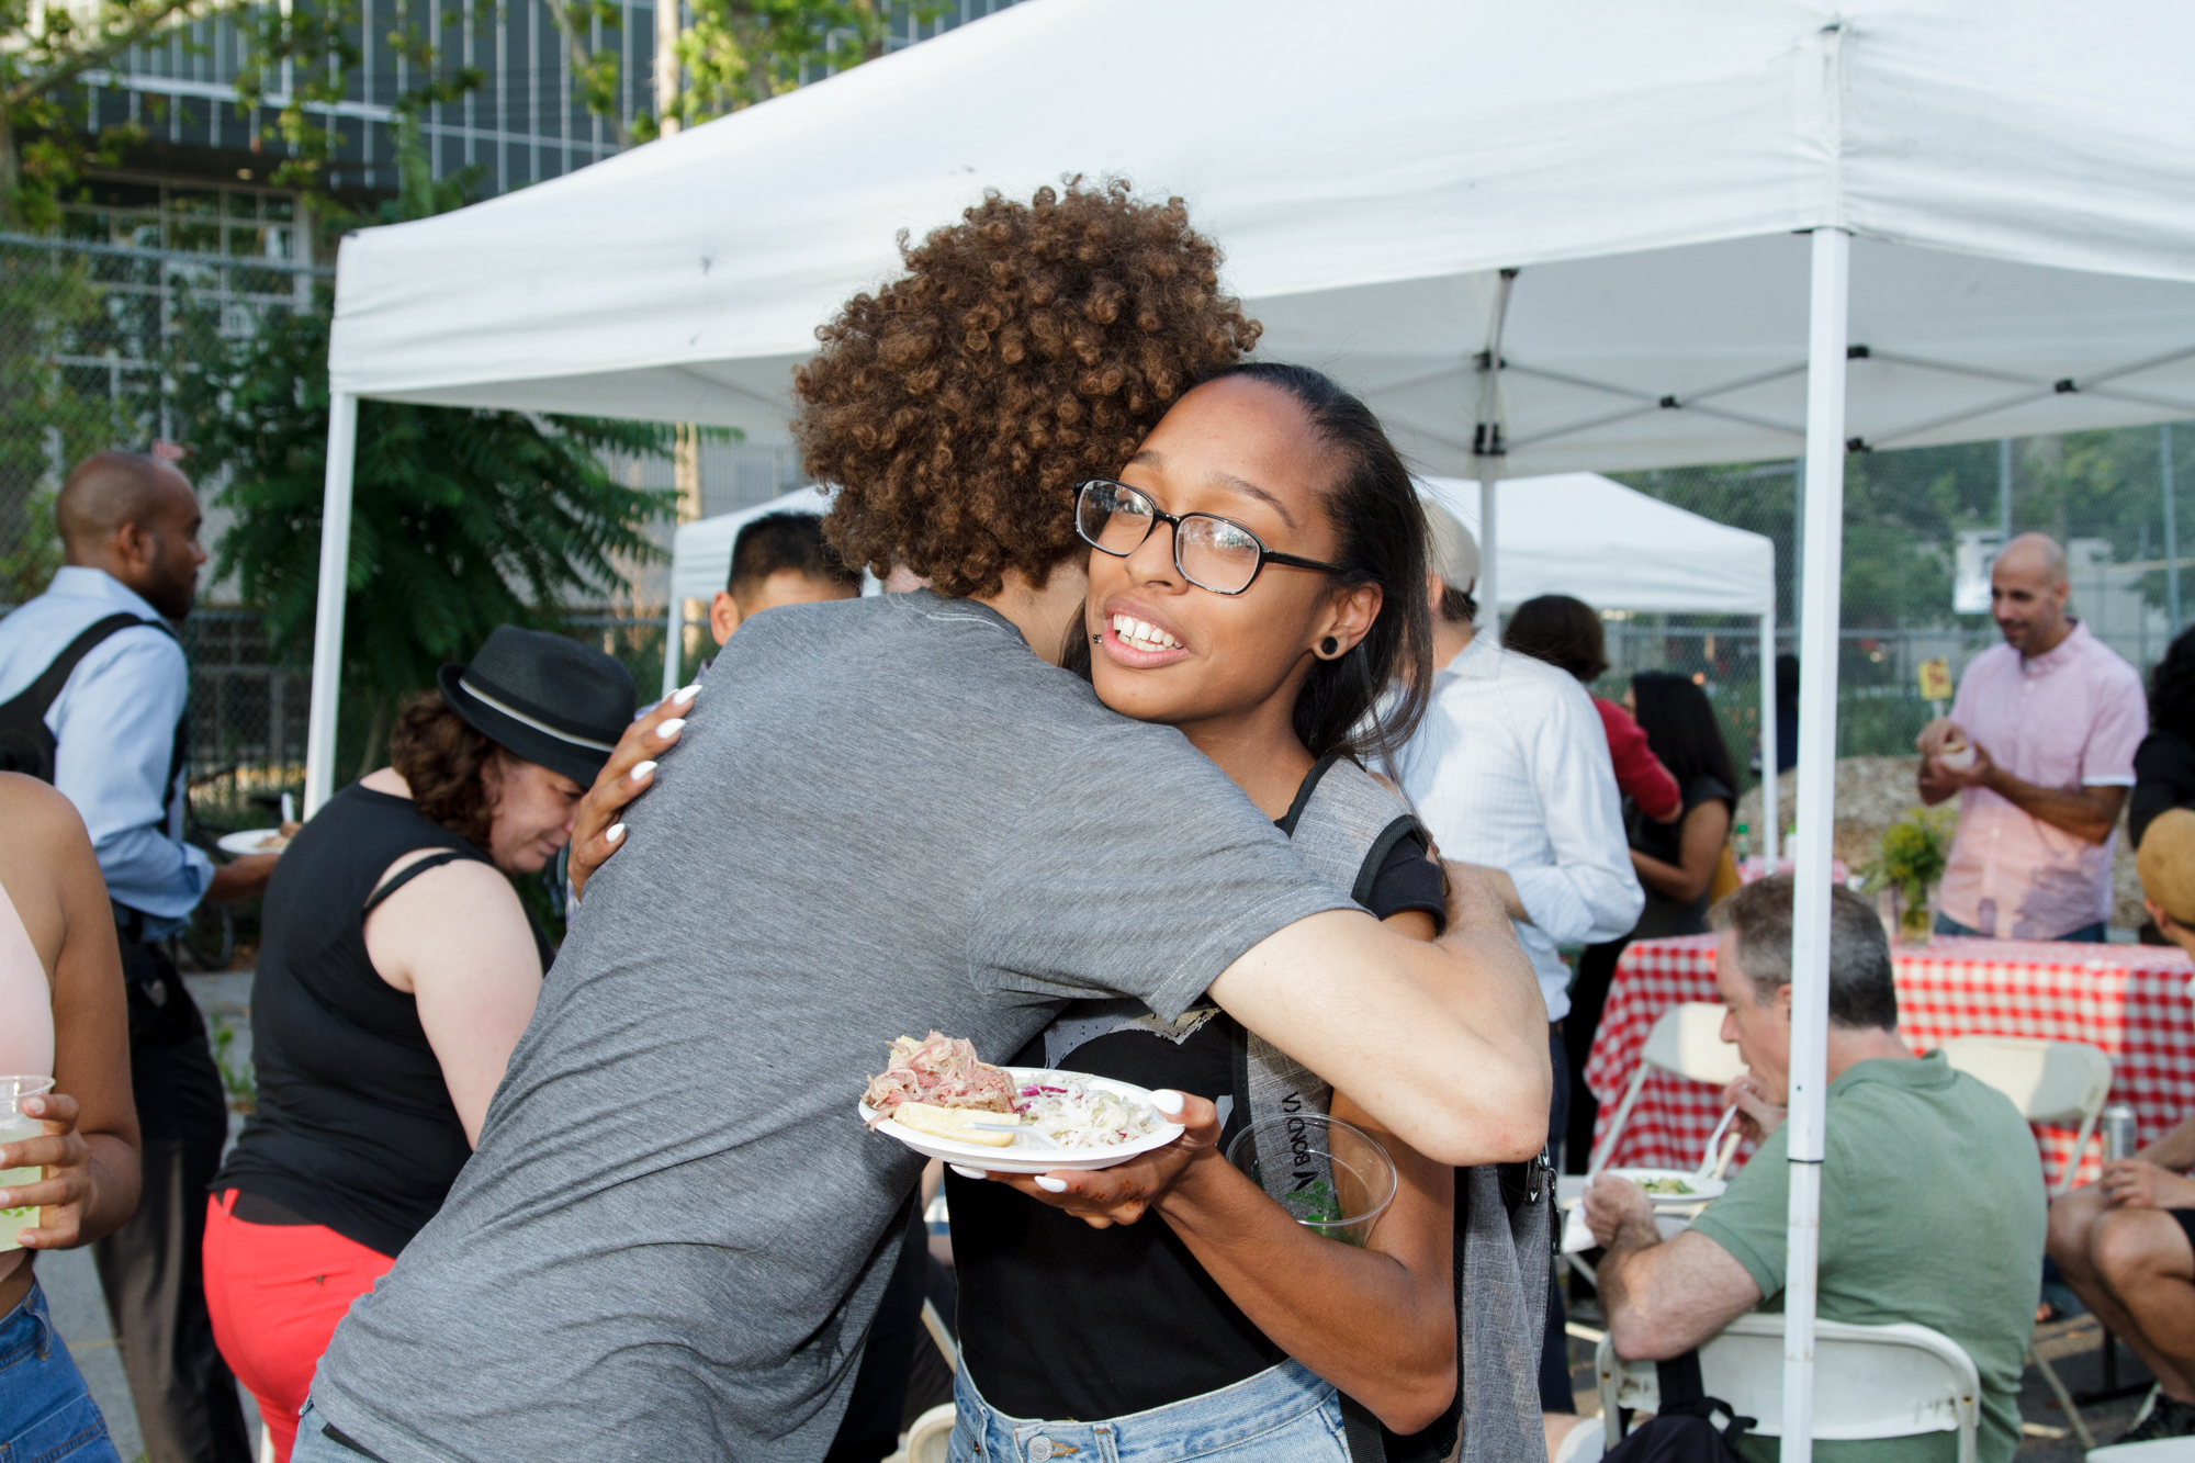
[[[1409, 734], [1429, 681], [1425, 521], [1372, 413], [1317, 371], [1238, 367], [1183, 395], [1119, 481], [1080, 485], [1078, 532], [1098, 549], [1082, 659], [1100, 699], [1179, 727], [1306, 857], [1343, 839], [1337, 881], [1431, 938], [1425, 833], [1357, 762]], [[1383, 703], [1392, 683], [1409, 690]], [[1152, 1197], [1159, 1221], [1130, 1226], [1062, 1210], [1040, 1191], [1058, 1180], [948, 1177], [955, 1463], [1093, 1430], [1122, 1459], [1187, 1439], [1348, 1459], [1337, 1388], [1389, 1428], [1389, 1456], [1453, 1443], [1453, 1171], [1337, 1092], [1332, 1114], [1381, 1140], [1400, 1186], [1361, 1250], [1306, 1232], [1223, 1158], [1251, 1116], [1253, 1046], [1212, 1008], [1166, 1026], [1069, 1006], [1014, 1057], [1201, 1098], [1181, 1114], [1194, 1158]]]

